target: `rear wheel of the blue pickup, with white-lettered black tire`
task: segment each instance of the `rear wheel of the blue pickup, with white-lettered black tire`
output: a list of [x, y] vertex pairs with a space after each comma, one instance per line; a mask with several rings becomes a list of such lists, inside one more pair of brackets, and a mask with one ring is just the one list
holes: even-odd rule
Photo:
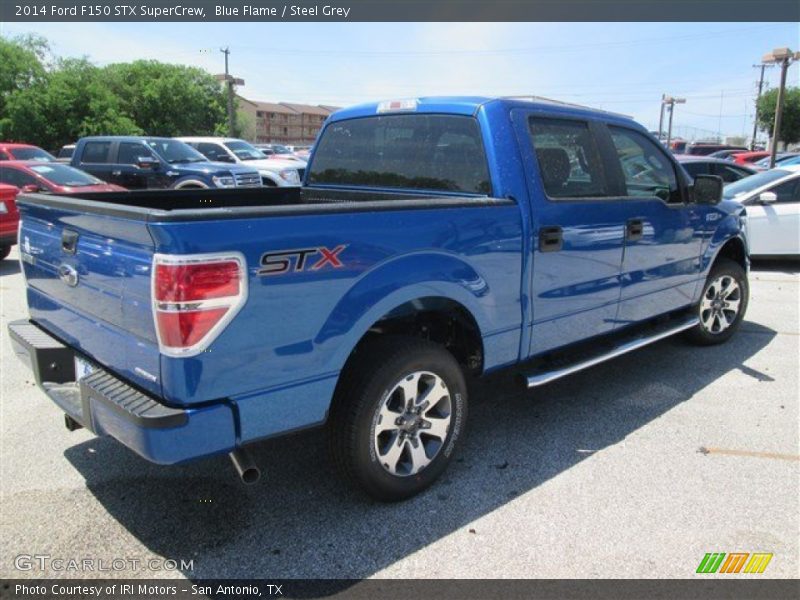
[[331, 454], [373, 498], [410, 498], [442, 474], [463, 434], [464, 375], [452, 354], [425, 340], [386, 336], [357, 352], [331, 410]]

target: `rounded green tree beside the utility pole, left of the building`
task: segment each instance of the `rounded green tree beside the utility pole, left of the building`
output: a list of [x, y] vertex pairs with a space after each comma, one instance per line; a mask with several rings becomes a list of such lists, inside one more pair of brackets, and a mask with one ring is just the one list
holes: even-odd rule
[[225, 123], [218, 81], [196, 67], [153, 60], [109, 65], [109, 90], [145, 135], [213, 135]]

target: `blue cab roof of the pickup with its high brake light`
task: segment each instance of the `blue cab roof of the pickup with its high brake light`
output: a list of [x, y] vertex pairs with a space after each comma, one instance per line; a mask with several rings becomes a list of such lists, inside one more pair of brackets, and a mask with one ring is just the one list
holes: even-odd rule
[[[341, 121], [375, 114], [390, 113], [446, 113], [474, 115], [481, 107], [489, 104], [502, 104], [507, 108], [542, 108], [564, 114], [603, 116], [613, 120], [631, 120], [631, 117], [597, 108], [571, 104], [541, 96], [429, 96], [424, 98], [403, 98], [383, 102], [369, 102], [344, 108], [331, 115], [331, 121]], [[397, 106], [397, 108], [394, 108]]]

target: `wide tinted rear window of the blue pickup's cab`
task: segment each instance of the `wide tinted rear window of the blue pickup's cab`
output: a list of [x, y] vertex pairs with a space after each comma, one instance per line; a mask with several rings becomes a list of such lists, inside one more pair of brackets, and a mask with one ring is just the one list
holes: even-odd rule
[[491, 193], [478, 122], [457, 115], [338, 121], [319, 141], [311, 184]]

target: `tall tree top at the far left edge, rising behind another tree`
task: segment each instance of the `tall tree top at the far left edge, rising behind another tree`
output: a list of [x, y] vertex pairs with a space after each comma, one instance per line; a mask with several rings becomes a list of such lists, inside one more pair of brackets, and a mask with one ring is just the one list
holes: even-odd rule
[[0, 117], [6, 112], [9, 96], [44, 80], [43, 63], [48, 53], [44, 38], [33, 35], [0, 37]]

